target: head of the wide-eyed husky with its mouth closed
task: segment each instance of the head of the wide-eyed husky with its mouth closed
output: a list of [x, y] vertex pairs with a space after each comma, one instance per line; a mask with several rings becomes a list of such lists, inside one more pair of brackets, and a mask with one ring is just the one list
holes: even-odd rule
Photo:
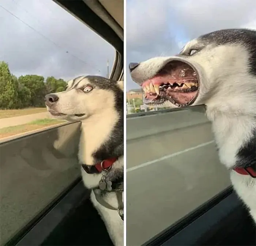
[[55, 118], [84, 120], [108, 109], [123, 108], [123, 81], [101, 76], [80, 76], [68, 81], [63, 92], [45, 96], [45, 104]]

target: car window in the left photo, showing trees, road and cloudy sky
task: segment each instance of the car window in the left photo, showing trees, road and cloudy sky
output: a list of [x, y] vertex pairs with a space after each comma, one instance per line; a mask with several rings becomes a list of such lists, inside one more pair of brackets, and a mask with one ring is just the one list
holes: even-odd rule
[[0, 21], [4, 245], [80, 176], [80, 123], [51, 118], [44, 96], [81, 75], [109, 77], [116, 50], [52, 0], [0, 1]]

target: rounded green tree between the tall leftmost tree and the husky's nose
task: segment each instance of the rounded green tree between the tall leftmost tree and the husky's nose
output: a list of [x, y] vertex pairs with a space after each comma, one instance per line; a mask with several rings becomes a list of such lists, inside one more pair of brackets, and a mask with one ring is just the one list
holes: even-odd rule
[[[47, 94], [44, 77], [37, 74], [20, 76], [18, 78], [19, 84], [22, 86], [22, 95], [24, 93], [29, 97], [28, 90], [30, 91], [29, 106], [44, 107], [44, 96]], [[28, 90], [27, 90], [28, 89]], [[26, 91], [26, 92], [25, 92]]]

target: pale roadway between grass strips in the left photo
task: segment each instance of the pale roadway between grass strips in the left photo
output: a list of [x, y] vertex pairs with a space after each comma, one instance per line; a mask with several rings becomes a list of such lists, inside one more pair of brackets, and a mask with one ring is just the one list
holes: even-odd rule
[[0, 119], [0, 128], [18, 126], [38, 119], [52, 118], [48, 112]]

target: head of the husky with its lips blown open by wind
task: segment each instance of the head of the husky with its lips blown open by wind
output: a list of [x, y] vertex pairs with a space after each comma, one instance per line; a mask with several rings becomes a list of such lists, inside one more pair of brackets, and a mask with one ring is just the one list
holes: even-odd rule
[[176, 56], [131, 63], [129, 70], [143, 88], [144, 104], [256, 113], [256, 31], [214, 31], [188, 42]]

